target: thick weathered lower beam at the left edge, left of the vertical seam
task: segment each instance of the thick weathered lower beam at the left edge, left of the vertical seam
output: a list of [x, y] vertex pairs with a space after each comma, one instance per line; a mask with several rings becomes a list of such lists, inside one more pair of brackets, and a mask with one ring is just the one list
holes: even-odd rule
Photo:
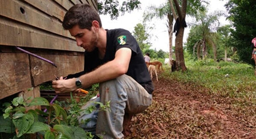
[[0, 53], [0, 99], [31, 87], [29, 56]]

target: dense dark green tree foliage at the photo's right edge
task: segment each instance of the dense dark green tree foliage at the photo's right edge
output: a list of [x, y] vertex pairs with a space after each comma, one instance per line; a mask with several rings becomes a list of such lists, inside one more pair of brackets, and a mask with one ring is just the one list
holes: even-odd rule
[[233, 22], [231, 31], [233, 47], [241, 61], [253, 64], [251, 60], [251, 40], [256, 37], [256, 0], [229, 0], [225, 5], [230, 16], [228, 19]]

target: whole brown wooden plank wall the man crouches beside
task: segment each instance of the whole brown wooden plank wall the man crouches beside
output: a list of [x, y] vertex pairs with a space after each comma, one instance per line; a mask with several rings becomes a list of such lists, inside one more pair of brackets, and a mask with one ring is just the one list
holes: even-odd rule
[[[83, 70], [84, 50], [61, 25], [67, 10], [78, 3], [97, 9], [97, 0], [0, 0], [0, 99], [19, 92], [40, 96], [38, 85], [54, 75]], [[16, 46], [54, 62], [57, 68]], [[37, 89], [28, 93], [31, 88]]]

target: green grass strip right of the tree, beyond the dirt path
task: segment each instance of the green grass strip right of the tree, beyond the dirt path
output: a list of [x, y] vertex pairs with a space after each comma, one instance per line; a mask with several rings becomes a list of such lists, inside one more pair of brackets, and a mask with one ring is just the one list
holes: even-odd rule
[[[243, 63], [215, 62], [212, 59], [189, 61], [186, 72], [165, 72], [164, 77], [182, 83], [195, 83], [223, 97], [236, 97], [256, 103], [254, 67]], [[166, 71], [171, 71], [166, 67]]]

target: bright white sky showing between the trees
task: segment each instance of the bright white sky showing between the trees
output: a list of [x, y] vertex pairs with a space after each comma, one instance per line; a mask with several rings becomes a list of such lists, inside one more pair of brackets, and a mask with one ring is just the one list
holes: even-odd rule
[[[227, 3], [227, 0], [209, 0], [210, 4], [208, 6], [209, 11], [222, 10], [226, 11], [224, 8], [224, 4]], [[114, 28], [124, 28], [131, 33], [134, 31], [134, 27], [138, 23], [142, 23], [143, 21], [143, 12], [149, 6], [160, 6], [167, 2], [167, 0], [140, 0], [141, 8], [139, 10], [135, 9], [131, 13], [125, 13], [123, 16], [119, 16], [115, 20], [111, 20], [109, 15], [100, 15], [102, 20], [102, 26], [105, 29], [114, 29]], [[186, 17], [186, 22], [192, 22], [192, 19]], [[229, 22], [225, 21], [225, 17], [221, 17], [220, 19], [221, 25], [229, 24]], [[169, 35], [168, 29], [166, 27], [167, 20], [166, 19], [153, 19], [150, 25], [154, 24], [154, 29], [150, 31], [151, 39], [149, 40], [152, 43], [151, 49], [163, 50], [165, 52], [169, 52]], [[188, 37], [189, 27], [185, 28], [183, 42], [186, 42], [186, 38]], [[173, 34], [173, 45], [175, 44], [175, 34]]]

